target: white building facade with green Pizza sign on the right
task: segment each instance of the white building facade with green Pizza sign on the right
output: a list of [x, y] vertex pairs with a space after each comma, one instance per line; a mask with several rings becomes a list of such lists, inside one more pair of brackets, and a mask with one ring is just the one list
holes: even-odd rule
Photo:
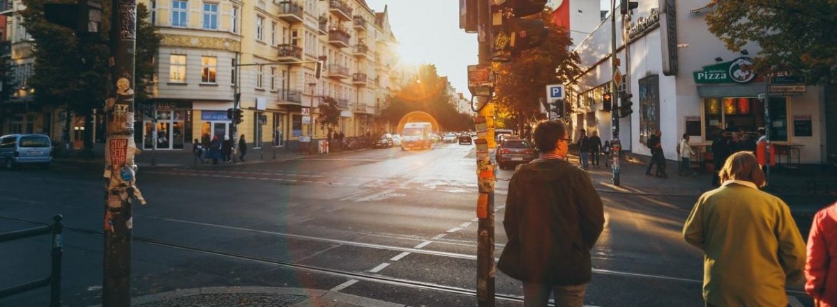
[[[663, 149], [669, 159], [676, 159], [676, 143], [684, 133], [701, 149], [711, 146], [720, 131], [743, 130], [755, 137], [757, 128], [765, 126], [765, 103], [759, 95], [768, 93], [773, 142], [798, 148], [793, 159], [799, 157], [802, 163], [824, 162], [829, 154], [837, 154], [826, 149], [824, 88], [806, 87], [797, 76], [785, 72], [769, 77], [752, 73], [749, 56], [757, 54], [757, 45], [747, 45], [739, 53], [727, 50], [706, 25], [711, 7], [674, 3], [639, 1], [627, 40], [617, 12], [619, 90], [633, 95], [629, 99], [632, 113], [619, 118], [619, 138], [625, 150], [650, 155], [644, 143], [657, 128], [663, 132]], [[612, 135], [612, 112], [603, 103], [603, 93], [610, 93], [614, 78], [610, 28], [608, 16], [575, 49], [585, 73], [567, 89], [574, 109], [573, 132], [580, 128], [598, 131], [603, 140]]]

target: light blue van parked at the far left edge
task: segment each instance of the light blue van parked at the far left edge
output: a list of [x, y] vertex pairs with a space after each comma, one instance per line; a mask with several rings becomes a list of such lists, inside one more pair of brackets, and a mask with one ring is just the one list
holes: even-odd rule
[[52, 141], [44, 134], [8, 134], [0, 137], [0, 162], [6, 169], [18, 164], [41, 164], [44, 168], [52, 162]]

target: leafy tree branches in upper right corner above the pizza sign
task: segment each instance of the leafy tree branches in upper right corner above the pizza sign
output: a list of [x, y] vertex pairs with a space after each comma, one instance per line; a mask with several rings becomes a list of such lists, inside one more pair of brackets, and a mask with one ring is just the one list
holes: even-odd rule
[[709, 31], [732, 51], [762, 49], [755, 72], [788, 71], [809, 84], [837, 83], [837, 2], [833, 0], [714, 0]]

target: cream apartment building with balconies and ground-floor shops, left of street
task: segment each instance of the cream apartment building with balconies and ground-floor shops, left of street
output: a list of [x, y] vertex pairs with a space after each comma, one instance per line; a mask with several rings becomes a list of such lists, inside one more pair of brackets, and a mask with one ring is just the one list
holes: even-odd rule
[[[25, 87], [33, 42], [20, 26], [20, 1], [9, 9], [7, 56], [17, 67], [15, 100], [31, 98]], [[395, 38], [387, 18], [363, 0], [141, 0], [162, 36], [151, 101], [139, 109], [136, 142], [144, 149], [189, 150], [195, 139], [244, 134], [250, 148], [295, 149], [300, 137], [326, 138], [318, 107], [326, 97], [341, 109], [337, 131], [375, 132], [375, 114], [400, 74], [393, 63]], [[323, 63], [321, 73], [315, 71]], [[390, 77], [390, 75], [395, 77]], [[316, 78], [320, 75], [320, 78]], [[227, 110], [239, 108], [234, 127]], [[3, 114], [0, 133], [49, 133], [59, 139], [66, 114], [31, 105]], [[9, 109], [9, 108], [7, 108]], [[100, 118], [95, 117], [95, 122]], [[71, 130], [84, 129], [75, 118]], [[28, 128], [31, 127], [31, 128]], [[95, 135], [104, 131], [95, 128]], [[235, 130], [235, 131], [234, 131]], [[80, 147], [83, 133], [71, 140]], [[96, 138], [96, 136], [94, 136]]]

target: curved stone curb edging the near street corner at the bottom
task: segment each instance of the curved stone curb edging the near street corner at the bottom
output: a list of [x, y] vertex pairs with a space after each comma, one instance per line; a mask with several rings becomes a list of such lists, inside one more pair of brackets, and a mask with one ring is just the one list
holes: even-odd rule
[[[304, 289], [304, 288], [280, 288], [280, 287], [203, 287], [191, 289], [176, 289], [173, 291], [148, 294], [131, 299], [132, 305], [137, 304], [151, 304], [166, 299], [182, 299], [190, 296], [200, 296], [207, 294], [275, 294], [275, 295], [297, 295], [306, 296], [292, 307], [313, 307], [313, 306], [329, 306], [327, 303], [341, 303], [334, 304], [339, 306], [381, 306], [381, 307], [404, 307], [403, 304], [395, 304], [385, 302], [383, 300], [368, 299], [362, 296], [352, 294], [342, 294], [340, 292], [333, 292], [321, 289]], [[326, 304], [323, 304], [326, 303]], [[101, 307], [101, 304], [91, 305], [89, 307]]]

